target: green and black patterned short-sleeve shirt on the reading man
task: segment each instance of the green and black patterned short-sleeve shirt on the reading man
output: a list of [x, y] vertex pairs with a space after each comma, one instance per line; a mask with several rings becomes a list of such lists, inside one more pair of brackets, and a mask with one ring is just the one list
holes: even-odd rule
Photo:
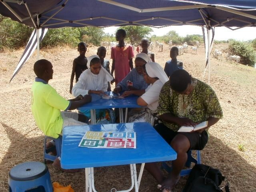
[[[158, 116], [170, 113], [180, 118], [190, 118], [203, 122], [208, 117], [222, 118], [222, 108], [214, 90], [206, 83], [192, 78], [193, 91], [189, 95], [179, 94], [170, 88], [170, 81], [161, 89], [158, 101]], [[168, 128], [177, 131], [178, 124], [163, 122]]]

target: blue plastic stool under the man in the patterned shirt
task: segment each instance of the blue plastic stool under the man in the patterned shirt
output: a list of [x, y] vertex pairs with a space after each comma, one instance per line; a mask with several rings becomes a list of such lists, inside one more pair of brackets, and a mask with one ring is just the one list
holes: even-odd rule
[[[195, 163], [195, 164], [201, 164], [201, 157], [200, 157], [200, 151], [197, 150], [197, 159], [195, 159], [194, 157], [192, 157], [192, 151], [188, 151], [188, 160], [185, 164], [186, 167], [190, 168], [191, 163]], [[162, 168], [164, 168], [168, 173], [170, 173], [172, 171], [172, 167], [168, 166], [166, 164], [166, 162], [162, 162]], [[192, 169], [183, 169], [180, 172], [180, 176], [186, 176], [189, 175]]]

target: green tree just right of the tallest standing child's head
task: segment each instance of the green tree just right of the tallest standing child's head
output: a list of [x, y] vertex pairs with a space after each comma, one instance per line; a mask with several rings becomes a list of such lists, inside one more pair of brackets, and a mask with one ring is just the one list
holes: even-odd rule
[[144, 37], [149, 38], [150, 32], [153, 30], [147, 26], [123, 26], [118, 29], [126, 31], [126, 38], [129, 39], [131, 44], [138, 43]]

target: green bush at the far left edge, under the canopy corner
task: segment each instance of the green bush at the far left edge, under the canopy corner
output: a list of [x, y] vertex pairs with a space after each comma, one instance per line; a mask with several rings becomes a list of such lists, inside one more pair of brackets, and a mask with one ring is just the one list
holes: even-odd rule
[[0, 15], [0, 50], [25, 47], [32, 31], [33, 28]]

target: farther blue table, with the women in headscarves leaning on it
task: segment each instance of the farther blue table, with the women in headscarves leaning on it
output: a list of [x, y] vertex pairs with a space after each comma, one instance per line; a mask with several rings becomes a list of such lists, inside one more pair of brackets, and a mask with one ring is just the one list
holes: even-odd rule
[[[113, 96], [113, 92], [105, 92], [106, 94]], [[128, 108], [141, 108], [142, 106], [137, 105], [138, 96], [131, 95], [124, 99], [111, 98], [103, 99], [101, 96], [94, 95], [96, 98], [90, 103], [86, 103], [79, 107], [78, 110], [91, 110], [91, 123], [96, 124], [96, 114], [95, 109], [109, 109], [109, 108], [119, 108], [120, 122], [124, 123], [127, 119]], [[123, 117], [122, 108], [126, 108], [125, 119]]]

